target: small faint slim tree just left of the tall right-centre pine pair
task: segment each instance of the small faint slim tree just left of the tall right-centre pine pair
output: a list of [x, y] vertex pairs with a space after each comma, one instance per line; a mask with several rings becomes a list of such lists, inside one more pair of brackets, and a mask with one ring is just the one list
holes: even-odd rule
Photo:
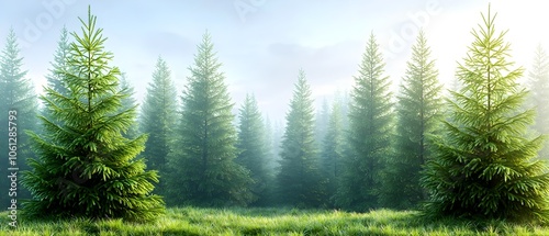
[[344, 130], [339, 102], [332, 105], [326, 134], [322, 143], [321, 169], [324, 179], [327, 199], [324, 203], [334, 206], [333, 196], [337, 192], [339, 176], [341, 173], [341, 158], [344, 155]]

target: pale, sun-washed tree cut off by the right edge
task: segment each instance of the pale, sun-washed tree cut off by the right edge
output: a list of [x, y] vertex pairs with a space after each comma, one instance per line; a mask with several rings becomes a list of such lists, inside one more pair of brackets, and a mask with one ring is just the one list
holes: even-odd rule
[[[539, 134], [549, 135], [549, 57], [541, 45], [536, 49], [528, 79], [529, 100], [537, 114], [534, 128]], [[544, 144], [539, 155], [549, 158], [549, 143], [546, 141]]]

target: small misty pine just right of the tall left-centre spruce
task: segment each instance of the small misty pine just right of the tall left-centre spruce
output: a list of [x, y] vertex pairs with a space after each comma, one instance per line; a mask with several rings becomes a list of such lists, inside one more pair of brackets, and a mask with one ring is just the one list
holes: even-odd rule
[[254, 95], [247, 94], [239, 111], [238, 142], [236, 162], [250, 171], [254, 184], [250, 191], [257, 198], [254, 205], [266, 205], [269, 192], [269, 170], [267, 169], [267, 144], [265, 142], [264, 121]]

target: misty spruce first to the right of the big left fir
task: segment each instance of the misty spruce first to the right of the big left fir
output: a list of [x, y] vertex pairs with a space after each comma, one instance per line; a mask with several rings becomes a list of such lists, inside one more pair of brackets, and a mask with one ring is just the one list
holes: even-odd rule
[[161, 57], [156, 61], [153, 81], [148, 83], [147, 94], [141, 114], [141, 132], [148, 134], [143, 156], [149, 169], [158, 170], [160, 182], [155, 191], [166, 193], [168, 155], [171, 151], [173, 132], [177, 125], [177, 91], [171, 71]]

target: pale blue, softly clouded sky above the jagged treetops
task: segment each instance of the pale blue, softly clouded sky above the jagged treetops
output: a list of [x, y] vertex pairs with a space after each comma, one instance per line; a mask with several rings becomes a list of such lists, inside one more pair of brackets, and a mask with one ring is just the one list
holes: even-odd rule
[[541, 0], [0, 0], [0, 46], [13, 27], [23, 69], [40, 93], [61, 27], [79, 32], [78, 18], [86, 18], [91, 5], [108, 37], [105, 49], [114, 55], [111, 65], [126, 74], [142, 103], [159, 56], [181, 94], [208, 31], [235, 109], [254, 93], [270, 120], [283, 122], [299, 69], [320, 106], [351, 90], [371, 34], [395, 91], [419, 29], [448, 86], [489, 4], [497, 12], [496, 30], [508, 30], [516, 66], [528, 69], [537, 45], [549, 49], [549, 14]]

